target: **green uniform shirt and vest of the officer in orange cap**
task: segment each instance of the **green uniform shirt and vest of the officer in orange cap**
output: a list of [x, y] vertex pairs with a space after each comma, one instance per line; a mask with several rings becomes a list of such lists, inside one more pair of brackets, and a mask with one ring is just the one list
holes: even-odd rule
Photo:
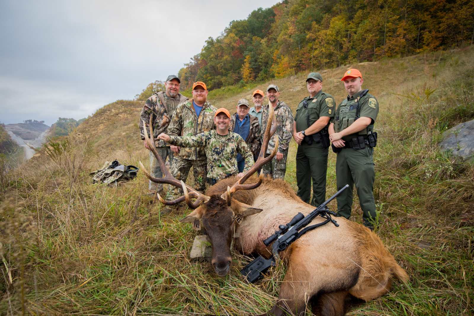
[[344, 136], [342, 139], [345, 141], [349, 141], [352, 138], [357, 137], [358, 135], [366, 135], [367, 130], [374, 129], [375, 119], [377, 118], [377, 114], [379, 113], [379, 102], [370, 93], [365, 94], [361, 98], [360, 94], [363, 91], [364, 90], [359, 91], [352, 97], [347, 96], [347, 98], [344, 99], [337, 107], [336, 116], [332, 120], [332, 123], [334, 123], [334, 131], [340, 132], [349, 127], [352, 123], [354, 123], [357, 116], [357, 111], [359, 111], [358, 117], [369, 117], [372, 119], [371, 124], [367, 126], [366, 129], [361, 130], [358, 133]]

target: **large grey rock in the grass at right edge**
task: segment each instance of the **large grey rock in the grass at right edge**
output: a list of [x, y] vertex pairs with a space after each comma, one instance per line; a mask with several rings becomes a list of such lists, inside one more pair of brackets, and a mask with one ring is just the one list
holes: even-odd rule
[[474, 160], [474, 120], [456, 125], [443, 134], [439, 143], [441, 150], [450, 150], [454, 155]]

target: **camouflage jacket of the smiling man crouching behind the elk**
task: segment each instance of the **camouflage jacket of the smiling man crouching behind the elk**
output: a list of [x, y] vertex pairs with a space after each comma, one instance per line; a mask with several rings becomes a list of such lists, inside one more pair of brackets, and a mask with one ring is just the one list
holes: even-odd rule
[[203, 148], [207, 156], [208, 178], [221, 180], [229, 175], [237, 174], [237, 153], [245, 158], [244, 172], [254, 165], [252, 152], [244, 139], [230, 130], [226, 136], [219, 135], [216, 130], [191, 137], [171, 136], [169, 142], [175, 146]]

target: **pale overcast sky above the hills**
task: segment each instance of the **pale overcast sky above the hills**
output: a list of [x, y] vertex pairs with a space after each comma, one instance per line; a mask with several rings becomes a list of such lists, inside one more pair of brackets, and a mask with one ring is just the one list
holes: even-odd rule
[[0, 0], [0, 122], [87, 117], [177, 74], [230, 21], [278, 0]]

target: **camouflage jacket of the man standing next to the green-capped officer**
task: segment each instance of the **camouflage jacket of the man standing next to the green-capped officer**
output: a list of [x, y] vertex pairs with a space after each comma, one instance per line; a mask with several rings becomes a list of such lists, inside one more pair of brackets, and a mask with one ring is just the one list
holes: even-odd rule
[[[262, 132], [260, 133], [260, 139], [263, 143], [264, 130], [268, 121], [268, 104], [263, 105], [262, 113]], [[275, 135], [278, 135], [279, 145], [278, 151], [283, 153], [290, 146], [290, 140], [293, 136], [293, 113], [292, 110], [285, 102], [278, 101], [278, 104], [275, 108], [275, 118], [276, 118], [276, 131]], [[274, 136], [273, 136], [274, 137]], [[275, 148], [275, 142], [273, 138], [268, 142], [267, 153], [271, 153], [273, 148]]]

